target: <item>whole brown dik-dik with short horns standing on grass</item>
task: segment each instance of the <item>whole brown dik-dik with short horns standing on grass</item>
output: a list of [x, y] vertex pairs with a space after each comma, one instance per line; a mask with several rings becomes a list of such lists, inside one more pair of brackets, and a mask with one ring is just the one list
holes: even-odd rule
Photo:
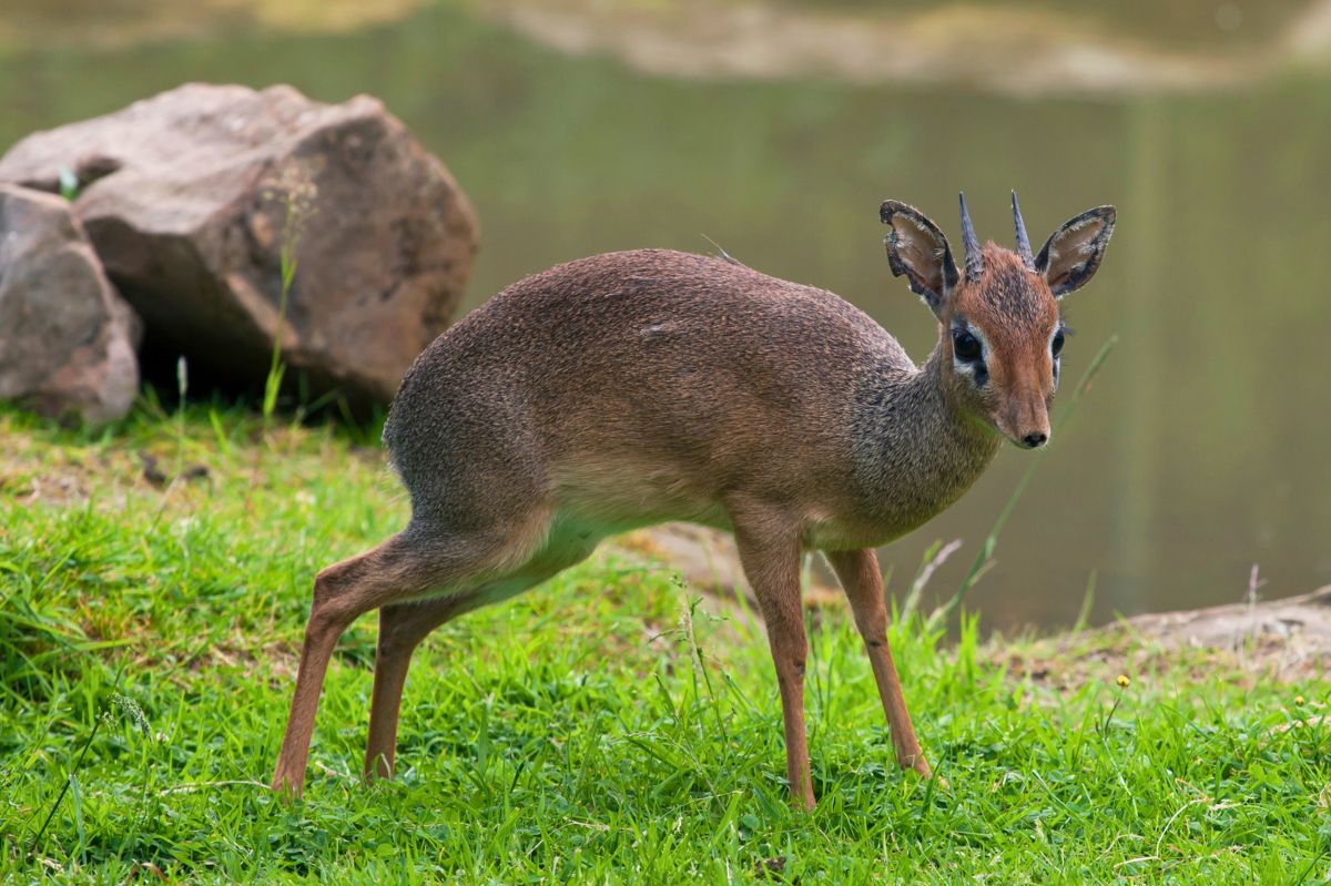
[[315, 579], [274, 789], [302, 790], [329, 657], [357, 616], [379, 611], [365, 774], [389, 777], [426, 635], [606, 536], [664, 520], [735, 533], [767, 623], [797, 804], [813, 804], [800, 604], [811, 549], [845, 588], [897, 764], [928, 777], [873, 549], [957, 500], [1002, 440], [1049, 440], [1059, 299], [1091, 278], [1114, 230], [1113, 206], [1091, 209], [1032, 254], [1016, 194], [1012, 208], [1016, 251], [981, 247], [962, 198], [958, 267], [937, 225], [882, 204], [892, 273], [938, 318], [924, 366], [832, 293], [666, 250], [560, 265], [443, 333], [383, 428], [411, 520]]

